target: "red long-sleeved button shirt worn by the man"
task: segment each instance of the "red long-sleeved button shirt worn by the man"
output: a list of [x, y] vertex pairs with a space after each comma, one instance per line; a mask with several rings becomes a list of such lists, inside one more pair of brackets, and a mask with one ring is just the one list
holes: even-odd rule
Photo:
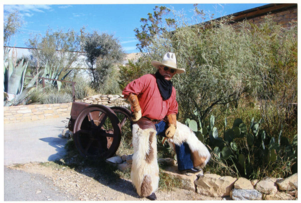
[[178, 113], [175, 88], [172, 87], [170, 98], [163, 101], [155, 74], [146, 74], [130, 82], [122, 94], [127, 98], [130, 93], [137, 95], [143, 117], [161, 120], [166, 115]]

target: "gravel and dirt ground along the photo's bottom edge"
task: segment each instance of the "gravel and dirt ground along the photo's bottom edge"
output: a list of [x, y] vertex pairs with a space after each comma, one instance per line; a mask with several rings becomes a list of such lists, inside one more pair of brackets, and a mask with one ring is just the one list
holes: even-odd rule
[[[37, 162], [4, 167], [5, 201], [133, 201], [147, 200], [136, 193], [130, 180], [96, 180], [89, 168], [75, 171], [69, 167], [52, 168]], [[157, 200], [222, 200], [174, 188], [157, 191]]]

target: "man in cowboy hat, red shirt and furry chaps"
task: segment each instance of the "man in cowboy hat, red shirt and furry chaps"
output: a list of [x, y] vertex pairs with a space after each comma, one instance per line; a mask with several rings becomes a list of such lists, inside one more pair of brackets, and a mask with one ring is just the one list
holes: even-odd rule
[[[140, 196], [155, 200], [154, 191], [159, 181], [156, 135], [168, 138], [177, 154], [181, 173], [200, 171], [194, 166], [206, 165], [210, 154], [203, 144], [200, 147], [201, 142], [195, 135], [189, 135], [192, 131], [176, 120], [178, 103], [170, 80], [185, 69], [177, 68], [175, 54], [170, 52], [164, 55], [162, 62], [152, 61], [151, 64], [158, 71], [133, 80], [122, 93], [132, 106], [134, 155], [131, 178]], [[180, 126], [178, 130], [177, 125]], [[194, 146], [196, 143], [199, 146]], [[202, 157], [197, 164], [194, 164], [192, 152]]]

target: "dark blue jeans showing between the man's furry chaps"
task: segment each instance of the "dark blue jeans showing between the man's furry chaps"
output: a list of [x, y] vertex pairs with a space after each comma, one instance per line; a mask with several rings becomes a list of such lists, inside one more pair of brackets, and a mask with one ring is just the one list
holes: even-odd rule
[[[165, 131], [168, 128], [165, 121], [161, 121], [155, 124], [157, 135], [166, 137]], [[191, 151], [186, 142], [183, 142], [180, 146], [175, 144], [175, 153], [178, 159], [178, 170], [186, 170], [193, 168], [193, 163], [191, 160]]]

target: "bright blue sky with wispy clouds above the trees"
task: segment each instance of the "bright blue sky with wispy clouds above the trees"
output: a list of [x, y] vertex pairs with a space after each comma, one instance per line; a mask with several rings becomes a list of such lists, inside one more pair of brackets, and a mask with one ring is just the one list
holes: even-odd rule
[[[147, 13], [153, 13], [155, 5], [164, 5], [168, 8], [173, 7], [176, 11], [184, 10], [186, 17], [191, 17], [192, 12], [190, 12], [190, 10], [193, 9], [193, 3], [135, 4], [134, 2], [132, 4], [97, 4], [100, 3], [100, 1], [94, 2], [94, 4], [83, 4], [85, 2], [73, 1], [73, 4], [60, 5], [55, 1], [51, 2], [56, 3], [53, 5], [31, 5], [28, 4], [29, 2], [27, 2], [27, 4], [26, 2], [17, 2], [25, 5], [13, 3], [14, 1], [4, 2], [3, 18], [5, 19], [9, 12], [17, 9], [22, 15], [24, 24], [19, 30], [20, 32], [11, 38], [10, 46], [26, 47], [25, 42], [28, 41], [31, 36], [35, 34], [45, 36], [45, 31], [48, 28], [53, 30], [63, 29], [65, 31], [72, 28], [77, 33], [80, 33], [80, 28], [85, 26], [85, 32], [93, 32], [96, 30], [99, 33], [106, 32], [113, 34], [115, 38], [118, 38], [126, 53], [138, 52], [135, 46], [138, 41], [135, 39], [133, 30], [136, 27], [140, 27], [140, 18], [147, 18]], [[202, 9], [206, 13], [214, 13], [215, 18], [218, 18], [265, 4], [267, 3], [200, 3], [199, 9]]]

